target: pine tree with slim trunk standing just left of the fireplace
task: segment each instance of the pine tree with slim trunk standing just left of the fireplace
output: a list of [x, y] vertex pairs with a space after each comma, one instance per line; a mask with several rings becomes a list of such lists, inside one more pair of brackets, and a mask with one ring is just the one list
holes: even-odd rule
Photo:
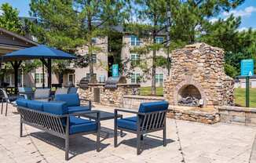
[[[152, 95], [155, 90], [155, 68], [157, 67], [158, 57], [156, 53], [163, 48], [162, 43], [156, 42], [156, 37], [163, 34], [166, 29], [166, 6], [165, 0], [135, 0], [135, 5], [140, 5], [137, 9], [137, 19], [144, 20], [142, 24], [129, 24], [130, 31], [140, 38], [146, 40], [144, 45], [132, 49], [133, 52], [144, 55], [144, 61], [141, 60], [140, 67], [144, 74], [150, 73], [152, 78]], [[152, 52], [152, 55], [150, 54]], [[150, 60], [150, 62], [148, 62]]]

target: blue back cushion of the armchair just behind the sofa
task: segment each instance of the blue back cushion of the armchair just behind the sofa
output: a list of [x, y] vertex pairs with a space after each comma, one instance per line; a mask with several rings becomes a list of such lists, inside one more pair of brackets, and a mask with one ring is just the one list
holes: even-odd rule
[[79, 94], [59, 94], [55, 96], [56, 101], [64, 101], [68, 107], [80, 106]]

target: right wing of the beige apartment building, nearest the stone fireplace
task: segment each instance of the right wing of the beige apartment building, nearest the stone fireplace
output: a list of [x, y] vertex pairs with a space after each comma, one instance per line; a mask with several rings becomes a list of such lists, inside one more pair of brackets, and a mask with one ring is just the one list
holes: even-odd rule
[[[156, 37], [157, 43], [164, 42], [165, 35], [159, 34]], [[122, 49], [122, 60], [126, 62], [126, 60], [130, 60], [129, 62], [126, 62], [126, 69], [130, 71], [130, 78], [127, 79], [127, 82], [130, 84], [139, 83], [141, 86], [151, 86], [152, 85], [152, 68], [148, 71], [148, 73], [144, 73], [144, 70], [141, 69], [141, 67], [137, 66], [141, 62], [144, 62], [146, 60], [147, 65], [152, 65], [152, 59], [148, 59], [148, 57], [152, 56], [152, 52], [145, 54], [145, 55], [139, 55], [137, 53], [132, 53], [131, 49], [137, 47], [137, 46], [143, 46], [146, 45], [148, 42], [148, 39], [145, 38], [138, 38], [137, 36], [133, 34], [124, 34], [123, 35], [123, 49]], [[147, 56], [147, 58], [146, 58]], [[156, 56], [164, 56], [166, 58], [166, 53], [163, 51], [163, 49], [160, 49], [156, 52]], [[123, 74], [126, 74], [126, 72], [123, 72]], [[163, 86], [163, 81], [166, 79], [168, 74], [168, 70], [166, 67], [156, 67], [155, 70], [155, 83], [156, 86]]]

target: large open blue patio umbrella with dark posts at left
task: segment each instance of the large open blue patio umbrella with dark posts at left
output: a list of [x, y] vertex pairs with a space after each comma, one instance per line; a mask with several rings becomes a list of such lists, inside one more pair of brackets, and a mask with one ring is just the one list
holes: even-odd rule
[[[61, 50], [51, 48], [46, 45], [37, 45], [26, 49], [20, 49], [13, 53], [8, 53], [2, 56], [4, 62], [11, 62], [15, 70], [15, 87], [17, 87], [18, 68], [22, 60], [35, 60], [39, 59], [46, 65], [49, 74], [48, 87], [51, 85], [51, 60], [73, 60], [76, 56], [65, 53]], [[48, 62], [46, 61], [48, 60]], [[43, 83], [44, 87], [44, 83]]]

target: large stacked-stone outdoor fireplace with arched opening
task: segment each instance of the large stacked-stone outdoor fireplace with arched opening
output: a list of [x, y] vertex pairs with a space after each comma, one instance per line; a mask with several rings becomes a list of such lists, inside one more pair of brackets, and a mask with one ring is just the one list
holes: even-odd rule
[[171, 105], [233, 105], [234, 83], [225, 74], [222, 49], [197, 43], [171, 55], [171, 74], [164, 88], [164, 96]]

